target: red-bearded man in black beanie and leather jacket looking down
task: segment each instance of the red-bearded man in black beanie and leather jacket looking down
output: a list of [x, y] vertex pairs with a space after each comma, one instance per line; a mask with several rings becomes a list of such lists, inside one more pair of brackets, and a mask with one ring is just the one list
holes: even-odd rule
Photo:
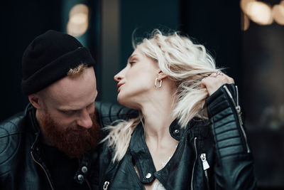
[[[26, 48], [22, 90], [31, 103], [0, 124], [0, 189], [92, 189], [100, 131], [93, 67], [65, 33], [47, 31]], [[99, 104], [101, 125], [120, 109]]]

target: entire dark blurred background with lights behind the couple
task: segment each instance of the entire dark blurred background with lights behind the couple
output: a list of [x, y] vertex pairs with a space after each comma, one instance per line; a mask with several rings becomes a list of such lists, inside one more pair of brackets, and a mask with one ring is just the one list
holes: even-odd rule
[[97, 100], [116, 102], [114, 74], [131, 36], [172, 29], [202, 43], [240, 88], [259, 189], [284, 189], [283, 0], [5, 1], [1, 19], [1, 115], [24, 110], [21, 57], [48, 29], [70, 33], [97, 61]]

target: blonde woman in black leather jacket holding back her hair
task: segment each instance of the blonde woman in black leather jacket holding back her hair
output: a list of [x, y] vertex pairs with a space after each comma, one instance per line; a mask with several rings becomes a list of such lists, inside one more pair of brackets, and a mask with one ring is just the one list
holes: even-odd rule
[[134, 49], [114, 79], [140, 115], [107, 127], [100, 189], [255, 189], [234, 80], [178, 33]]

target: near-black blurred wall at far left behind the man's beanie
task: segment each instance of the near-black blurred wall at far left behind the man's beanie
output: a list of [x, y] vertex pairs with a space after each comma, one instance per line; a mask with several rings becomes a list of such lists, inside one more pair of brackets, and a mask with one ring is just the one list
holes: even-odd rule
[[1, 6], [0, 121], [23, 110], [28, 97], [21, 92], [21, 57], [35, 36], [60, 31], [61, 1], [5, 1]]

